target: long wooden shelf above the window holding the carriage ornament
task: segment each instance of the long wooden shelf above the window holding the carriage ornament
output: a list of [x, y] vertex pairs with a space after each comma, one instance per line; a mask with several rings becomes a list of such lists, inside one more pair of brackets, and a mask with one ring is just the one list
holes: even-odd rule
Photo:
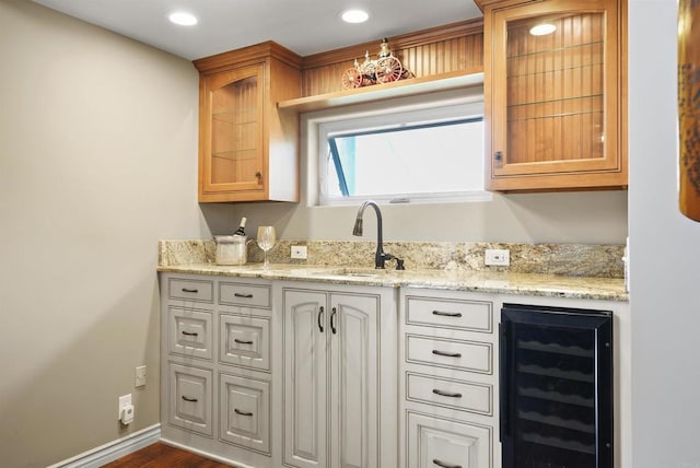
[[355, 104], [375, 103], [396, 97], [467, 89], [482, 84], [483, 73], [481, 72], [468, 74], [464, 72], [451, 72], [431, 77], [411, 78], [394, 83], [375, 84], [373, 86], [358, 87], [354, 90], [338, 91], [336, 93], [319, 94], [317, 96], [280, 101], [277, 103], [277, 107], [280, 110], [310, 113]]

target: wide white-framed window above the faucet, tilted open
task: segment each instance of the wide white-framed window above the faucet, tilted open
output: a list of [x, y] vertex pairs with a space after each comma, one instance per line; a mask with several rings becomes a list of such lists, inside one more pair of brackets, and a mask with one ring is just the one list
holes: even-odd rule
[[320, 204], [485, 198], [483, 102], [322, 122]]

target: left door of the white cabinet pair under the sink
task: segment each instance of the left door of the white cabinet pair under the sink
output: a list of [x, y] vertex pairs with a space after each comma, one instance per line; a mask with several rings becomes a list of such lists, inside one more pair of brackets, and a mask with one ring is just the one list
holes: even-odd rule
[[326, 467], [326, 294], [284, 291], [283, 301], [284, 463]]

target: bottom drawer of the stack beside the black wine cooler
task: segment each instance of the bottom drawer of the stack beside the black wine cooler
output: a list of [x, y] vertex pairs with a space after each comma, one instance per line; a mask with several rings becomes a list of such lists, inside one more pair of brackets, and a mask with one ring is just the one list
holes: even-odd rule
[[408, 468], [491, 466], [490, 428], [410, 411], [406, 421]]

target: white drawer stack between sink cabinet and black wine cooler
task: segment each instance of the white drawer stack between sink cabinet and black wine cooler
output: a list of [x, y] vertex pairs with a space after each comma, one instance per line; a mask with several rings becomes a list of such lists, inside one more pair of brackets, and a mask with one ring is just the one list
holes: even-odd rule
[[495, 296], [402, 289], [400, 467], [500, 468]]

